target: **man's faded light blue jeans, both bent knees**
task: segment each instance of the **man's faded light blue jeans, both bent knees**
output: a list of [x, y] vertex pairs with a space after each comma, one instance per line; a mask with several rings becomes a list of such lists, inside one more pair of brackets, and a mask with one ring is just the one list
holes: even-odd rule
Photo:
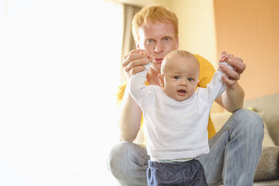
[[[208, 185], [250, 186], [262, 152], [264, 123], [257, 113], [236, 110], [209, 140], [210, 152], [197, 159]], [[146, 148], [127, 141], [112, 148], [107, 165], [122, 186], [147, 185]]]

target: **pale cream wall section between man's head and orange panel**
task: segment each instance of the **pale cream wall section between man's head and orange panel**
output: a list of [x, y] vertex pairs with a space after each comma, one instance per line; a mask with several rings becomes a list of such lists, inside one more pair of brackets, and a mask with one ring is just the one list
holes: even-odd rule
[[165, 6], [179, 18], [179, 48], [202, 55], [216, 67], [218, 54], [213, 1], [174, 0]]

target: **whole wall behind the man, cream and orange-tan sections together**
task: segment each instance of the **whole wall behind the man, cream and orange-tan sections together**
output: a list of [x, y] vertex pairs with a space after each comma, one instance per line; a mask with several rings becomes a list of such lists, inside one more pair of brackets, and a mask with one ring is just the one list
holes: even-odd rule
[[121, 0], [161, 4], [179, 18], [179, 48], [217, 66], [227, 50], [242, 57], [246, 99], [279, 92], [279, 0]]

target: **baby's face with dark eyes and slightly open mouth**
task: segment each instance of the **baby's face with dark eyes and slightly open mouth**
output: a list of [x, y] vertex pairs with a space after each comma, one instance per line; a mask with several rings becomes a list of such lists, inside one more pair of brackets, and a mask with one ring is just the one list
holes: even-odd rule
[[194, 57], [172, 55], [168, 57], [159, 75], [160, 85], [167, 96], [184, 101], [195, 93], [199, 82], [199, 64]]

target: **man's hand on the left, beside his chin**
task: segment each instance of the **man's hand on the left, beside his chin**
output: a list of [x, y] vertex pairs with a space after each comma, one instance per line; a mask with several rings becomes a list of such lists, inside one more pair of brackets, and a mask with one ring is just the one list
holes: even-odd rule
[[135, 73], [145, 70], [146, 64], [151, 62], [151, 55], [146, 50], [132, 50], [123, 58], [123, 69], [126, 72], [127, 78], [130, 78]]

